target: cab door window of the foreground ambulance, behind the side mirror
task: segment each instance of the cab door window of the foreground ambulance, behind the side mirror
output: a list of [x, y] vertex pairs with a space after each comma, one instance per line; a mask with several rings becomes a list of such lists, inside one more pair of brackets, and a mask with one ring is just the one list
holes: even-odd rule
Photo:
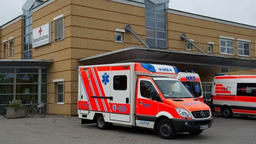
[[141, 91], [142, 97], [147, 98], [147, 99], [150, 99], [150, 93], [152, 91], [156, 92], [155, 87], [149, 81], [141, 81], [140, 82], [140, 91]]

